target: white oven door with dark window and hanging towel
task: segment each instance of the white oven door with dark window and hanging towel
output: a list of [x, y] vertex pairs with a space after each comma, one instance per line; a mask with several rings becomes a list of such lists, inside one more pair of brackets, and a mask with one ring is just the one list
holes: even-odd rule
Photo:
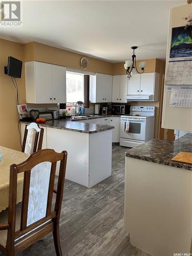
[[[129, 122], [129, 132], [126, 133], [126, 125]], [[120, 137], [132, 140], [145, 141], [145, 118], [123, 118], [121, 117]]]

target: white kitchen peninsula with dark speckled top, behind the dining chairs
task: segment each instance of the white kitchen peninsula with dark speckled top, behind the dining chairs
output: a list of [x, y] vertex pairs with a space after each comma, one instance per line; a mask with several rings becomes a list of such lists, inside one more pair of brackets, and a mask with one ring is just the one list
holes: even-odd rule
[[[24, 134], [25, 122], [21, 123]], [[66, 150], [66, 179], [88, 188], [111, 176], [112, 129], [114, 126], [55, 119], [44, 128], [42, 148]], [[57, 164], [56, 173], [58, 174]]]

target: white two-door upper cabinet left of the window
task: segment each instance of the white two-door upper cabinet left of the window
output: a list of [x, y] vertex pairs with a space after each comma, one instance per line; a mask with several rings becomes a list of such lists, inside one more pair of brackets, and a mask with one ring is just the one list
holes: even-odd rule
[[27, 103], [66, 103], [66, 67], [25, 62]]

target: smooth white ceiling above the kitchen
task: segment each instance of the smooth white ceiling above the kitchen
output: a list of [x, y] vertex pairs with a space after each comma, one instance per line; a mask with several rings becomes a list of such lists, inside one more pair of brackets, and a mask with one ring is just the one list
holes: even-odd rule
[[165, 58], [169, 9], [185, 1], [24, 1], [23, 27], [2, 28], [5, 39], [41, 42], [120, 62]]

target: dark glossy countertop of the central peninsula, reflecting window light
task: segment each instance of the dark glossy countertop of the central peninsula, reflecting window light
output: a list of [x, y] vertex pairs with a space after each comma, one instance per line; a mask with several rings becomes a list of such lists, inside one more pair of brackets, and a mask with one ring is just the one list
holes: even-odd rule
[[[22, 122], [22, 123], [29, 124], [30, 122]], [[89, 133], [89, 134], [115, 129], [115, 127], [111, 125], [72, 122], [71, 120], [64, 120], [64, 119], [47, 120], [45, 123], [39, 123], [39, 125], [42, 127], [50, 127], [55, 129], [61, 129], [61, 130], [67, 130], [72, 132], [79, 132], [79, 133]]]

